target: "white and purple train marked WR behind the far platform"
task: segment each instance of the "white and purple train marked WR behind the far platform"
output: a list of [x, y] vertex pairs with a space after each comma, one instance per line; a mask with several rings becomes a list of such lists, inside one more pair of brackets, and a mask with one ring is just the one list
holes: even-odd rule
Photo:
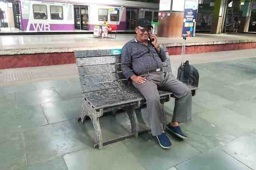
[[134, 31], [139, 18], [158, 20], [159, 0], [16, 0], [14, 25], [24, 32], [93, 31], [106, 19], [112, 31]]

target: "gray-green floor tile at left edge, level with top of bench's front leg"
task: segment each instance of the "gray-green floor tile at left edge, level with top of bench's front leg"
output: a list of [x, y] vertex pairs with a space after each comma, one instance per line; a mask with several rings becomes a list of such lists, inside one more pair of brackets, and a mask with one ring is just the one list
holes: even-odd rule
[[3, 109], [0, 115], [0, 129], [7, 131], [24, 130], [47, 124], [40, 105]]

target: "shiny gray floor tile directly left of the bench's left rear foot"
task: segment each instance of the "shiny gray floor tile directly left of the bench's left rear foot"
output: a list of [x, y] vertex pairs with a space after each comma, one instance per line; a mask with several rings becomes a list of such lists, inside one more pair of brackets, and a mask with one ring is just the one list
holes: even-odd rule
[[82, 98], [41, 104], [49, 123], [75, 119], [82, 106]]

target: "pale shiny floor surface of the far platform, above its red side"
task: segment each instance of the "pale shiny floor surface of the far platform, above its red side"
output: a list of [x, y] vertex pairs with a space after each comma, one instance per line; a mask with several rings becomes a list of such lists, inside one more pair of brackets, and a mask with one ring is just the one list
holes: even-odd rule
[[[114, 37], [114, 35], [112, 35]], [[0, 36], [0, 55], [63, 53], [81, 49], [122, 48], [132, 34], [118, 34], [116, 39], [94, 38], [92, 34], [79, 35], [13, 35]], [[187, 39], [187, 45], [216, 45], [256, 42], [255, 34], [202, 34]], [[182, 38], [159, 38], [166, 47], [182, 45]]]

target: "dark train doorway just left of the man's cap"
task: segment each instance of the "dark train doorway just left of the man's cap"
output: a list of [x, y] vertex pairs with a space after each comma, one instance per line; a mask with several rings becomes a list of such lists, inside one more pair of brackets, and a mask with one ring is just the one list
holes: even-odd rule
[[134, 30], [135, 22], [138, 20], [138, 9], [126, 9], [126, 30]]

